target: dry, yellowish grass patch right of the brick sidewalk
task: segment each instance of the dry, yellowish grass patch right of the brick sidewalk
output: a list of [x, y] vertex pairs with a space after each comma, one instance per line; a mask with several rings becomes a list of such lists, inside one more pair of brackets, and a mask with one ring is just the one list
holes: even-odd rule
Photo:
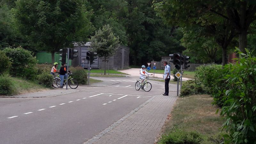
[[168, 135], [174, 129], [196, 131], [204, 135], [205, 143], [221, 143], [220, 127], [224, 119], [216, 114], [217, 107], [212, 106], [212, 101], [209, 95], [179, 98], [170, 115], [171, 120], [164, 124], [164, 133]]

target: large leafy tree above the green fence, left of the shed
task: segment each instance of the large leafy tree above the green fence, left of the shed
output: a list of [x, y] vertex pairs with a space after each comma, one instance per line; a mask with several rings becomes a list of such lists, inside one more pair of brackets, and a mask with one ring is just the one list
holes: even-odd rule
[[51, 52], [52, 63], [55, 52], [86, 41], [92, 31], [84, 0], [18, 0], [14, 12], [21, 33]]

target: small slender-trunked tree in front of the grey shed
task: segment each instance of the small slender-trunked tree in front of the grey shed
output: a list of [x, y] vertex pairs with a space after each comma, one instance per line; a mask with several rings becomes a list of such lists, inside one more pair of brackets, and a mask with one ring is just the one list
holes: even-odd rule
[[90, 51], [97, 52], [99, 57], [104, 57], [104, 75], [106, 75], [106, 59], [113, 56], [119, 46], [119, 37], [115, 36], [109, 25], [99, 28], [91, 37]]

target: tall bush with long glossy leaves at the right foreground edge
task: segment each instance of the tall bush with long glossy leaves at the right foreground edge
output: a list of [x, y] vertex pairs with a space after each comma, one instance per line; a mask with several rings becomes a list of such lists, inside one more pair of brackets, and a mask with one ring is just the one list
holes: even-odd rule
[[220, 115], [225, 117], [223, 128], [229, 132], [225, 143], [230, 143], [229, 138], [238, 144], [255, 143], [256, 139], [256, 57], [245, 50], [247, 54], [236, 48], [239, 59], [236, 64], [225, 66], [225, 75], [217, 79], [223, 87], [213, 92], [224, 102]]

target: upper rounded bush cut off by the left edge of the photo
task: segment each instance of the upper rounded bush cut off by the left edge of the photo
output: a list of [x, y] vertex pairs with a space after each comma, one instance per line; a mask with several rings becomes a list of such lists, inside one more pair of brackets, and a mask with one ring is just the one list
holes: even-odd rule
[[10, 58], [8, 58], [3, 51], [0, 51], [0, 64], [1, 64], [0, 75], [2, 75], [5, 72], [8, 72], [12, 66]]

